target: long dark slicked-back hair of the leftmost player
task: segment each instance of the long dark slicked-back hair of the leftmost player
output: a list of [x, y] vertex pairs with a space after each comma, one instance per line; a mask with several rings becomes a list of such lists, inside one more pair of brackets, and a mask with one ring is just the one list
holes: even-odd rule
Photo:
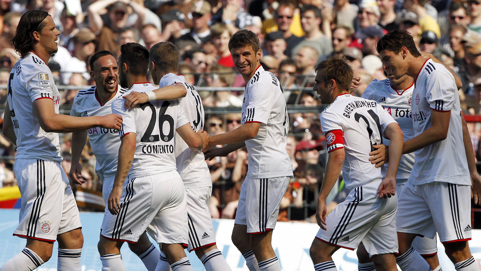
[[25, 57], [37, 41], [33, 37], [33, 32], [41, 32], [43, 27], [47, 24], [44, 22], [45, 18], [50, 16], [44, 10], [31, 10], [25, 12], [20, 17], [20, 22], [17, 26], [17, 31], [12, 39], [13, 48], [20, 54], [20, 57]]

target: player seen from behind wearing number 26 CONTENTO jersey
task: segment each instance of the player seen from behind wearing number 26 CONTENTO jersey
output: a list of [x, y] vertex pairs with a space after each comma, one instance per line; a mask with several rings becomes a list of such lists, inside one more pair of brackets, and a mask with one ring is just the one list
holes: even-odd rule
[[[120, 50], [119, 80], [130, 88], [126, 94], [157, 89], [147, 82], [147, 49], [127, 43]], [[207, 145], [208, 135], [192, 130], [177, 100], [126, 109], [119, 96], [112, 102], [112, 111], [125, 122], [119, 130], [122, 143], [107, 200], [110, 214], [102, 222], [98, 245], [102, 270], [125, 271], [120, 247], [125, 241], [137, 242], [145, 230], [160, 244], [173, 271], [192, 270], [183, 249], [188, 239], [187, 203], [176, 171], [174, 136], [177, 131], [190, 148], [200, 150]]]

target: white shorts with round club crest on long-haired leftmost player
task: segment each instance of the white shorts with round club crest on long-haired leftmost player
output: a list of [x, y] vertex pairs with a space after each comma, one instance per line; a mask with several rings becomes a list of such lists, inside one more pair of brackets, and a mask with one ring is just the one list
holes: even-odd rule
[[57, 235], [82, 228], [74, 193], [62, 165], [16, 159], [13, 173], [20, 190], [20, 222], [13, 235], [54, 242]]

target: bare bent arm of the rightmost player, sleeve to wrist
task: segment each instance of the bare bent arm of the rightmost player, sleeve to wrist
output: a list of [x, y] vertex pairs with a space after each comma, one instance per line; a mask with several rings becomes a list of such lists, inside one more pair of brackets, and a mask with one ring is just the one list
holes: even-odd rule
[[451, 111], [441, 112], [431, 108], [431, 127], [418, 136], [404, 142], [403, 154], [425, 148], [446, 139]]

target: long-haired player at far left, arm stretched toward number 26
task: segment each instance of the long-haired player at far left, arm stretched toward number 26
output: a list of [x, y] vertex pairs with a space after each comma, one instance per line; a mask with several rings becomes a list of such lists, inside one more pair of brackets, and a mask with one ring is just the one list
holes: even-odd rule
[[27, 243], [0, 270], [36, 269], [50, 259], [53, 243], [58, 241], [57, 269], [80, 271], [83, 235], [74, 195], [60, 164], [57, 133], [99, 126], [117, 129], [122, 118], [59, 114], [59, 91], [46, 63], [57, 52], [60, 31], [41, 10], [23, 14], [18, 26], [13, 46], [22, 58], [10, 74], [3, 133], [17, 146], [13, 170], [22, 206], [13, 235], [26, 238]]

